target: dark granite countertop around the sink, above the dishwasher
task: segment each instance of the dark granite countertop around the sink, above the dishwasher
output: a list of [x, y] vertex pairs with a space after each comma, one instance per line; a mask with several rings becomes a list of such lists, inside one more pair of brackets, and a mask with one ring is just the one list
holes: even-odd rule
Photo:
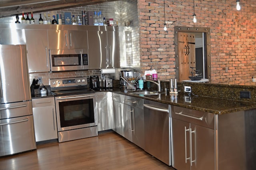
[[112, 92], [220, 115], [236, 111], [256, 109], [256, 103], [254, 102], [244, 102], [205, 96], [186, 96], [186, 94], [181, 93], [176, 96], [170, 95], [169, 93], [143, 96], [131, 94], [129, 91], [122, 91], [120, 88], [114, 88]]

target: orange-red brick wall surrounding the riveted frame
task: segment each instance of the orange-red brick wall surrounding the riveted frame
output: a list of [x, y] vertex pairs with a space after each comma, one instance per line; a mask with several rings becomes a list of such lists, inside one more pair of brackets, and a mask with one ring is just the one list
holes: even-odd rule
[[[241, 0], [138, 0], [141, 72], [156, 69], [160, 79], [175, 75], [174, 26], [210, 27], [212, 82], [246, 84], [256, 76], [256, 3]], [[227, 68], [226, 68], [227, 67]]]

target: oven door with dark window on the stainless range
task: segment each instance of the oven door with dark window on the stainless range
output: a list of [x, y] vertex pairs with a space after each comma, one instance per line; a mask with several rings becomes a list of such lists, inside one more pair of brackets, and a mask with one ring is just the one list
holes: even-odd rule
[[95, 94], [57, 96], [55, 102], [58, 132], [97, 125]]

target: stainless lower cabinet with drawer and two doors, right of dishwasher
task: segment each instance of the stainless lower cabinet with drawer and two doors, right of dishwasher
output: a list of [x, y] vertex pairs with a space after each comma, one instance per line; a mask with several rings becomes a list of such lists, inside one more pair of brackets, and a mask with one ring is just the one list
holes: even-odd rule
[[215, 170], [214, 114], [172, 106], [172, 166]]

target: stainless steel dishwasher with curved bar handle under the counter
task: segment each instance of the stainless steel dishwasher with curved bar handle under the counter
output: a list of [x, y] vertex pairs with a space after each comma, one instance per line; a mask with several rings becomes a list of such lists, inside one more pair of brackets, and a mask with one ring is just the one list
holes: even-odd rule
[[170, 106], [144, 100], [145, 151], [171, 165]]

